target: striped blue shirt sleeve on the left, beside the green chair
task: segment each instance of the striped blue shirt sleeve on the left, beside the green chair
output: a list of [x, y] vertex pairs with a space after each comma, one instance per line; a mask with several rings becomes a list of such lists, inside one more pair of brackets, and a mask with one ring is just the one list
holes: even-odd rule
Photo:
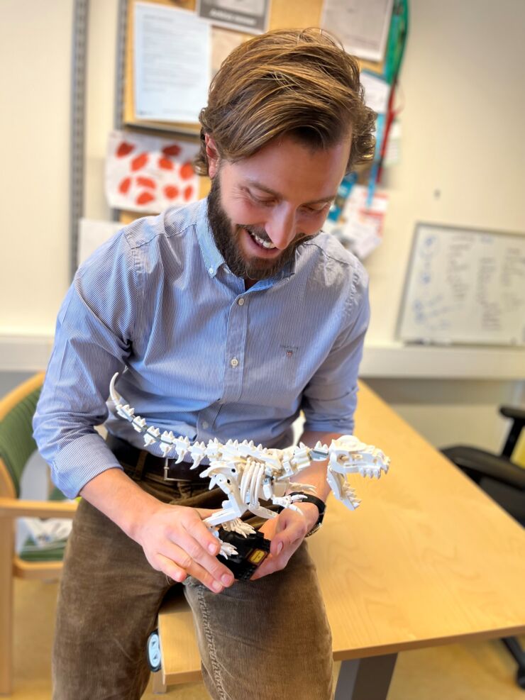
[[70, 498], [120, 468], [94, 426], [105, 421], [109, 382], [131, 352], [137, 300], [133, 251], [117, 233], [79, 268], [58, 314], [33, 428], [53, 481]]

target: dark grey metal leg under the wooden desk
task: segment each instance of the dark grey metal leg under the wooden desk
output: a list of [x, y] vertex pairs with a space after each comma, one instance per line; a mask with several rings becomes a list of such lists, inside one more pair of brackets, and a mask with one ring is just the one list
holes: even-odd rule
[[397, 654], [341, 662], [334, 700], [386, 700]]

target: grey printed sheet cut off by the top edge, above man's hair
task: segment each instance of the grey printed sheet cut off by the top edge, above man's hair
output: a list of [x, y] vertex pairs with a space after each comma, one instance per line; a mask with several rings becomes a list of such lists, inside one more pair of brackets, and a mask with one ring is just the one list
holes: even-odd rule
[[270, 0], [197, 0], [197, 14], [214, 24], [262, 34], [268, 27]]

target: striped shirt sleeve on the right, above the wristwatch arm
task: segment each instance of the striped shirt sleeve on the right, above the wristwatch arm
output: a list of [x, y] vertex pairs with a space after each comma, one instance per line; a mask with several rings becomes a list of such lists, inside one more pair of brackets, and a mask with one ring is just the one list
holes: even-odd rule
[[353, 280], [343, 329], [328, 357], [304, 389], [305, 430], [353, 433], [358, 370], [369, 321], [368, 279], [361, 268]]

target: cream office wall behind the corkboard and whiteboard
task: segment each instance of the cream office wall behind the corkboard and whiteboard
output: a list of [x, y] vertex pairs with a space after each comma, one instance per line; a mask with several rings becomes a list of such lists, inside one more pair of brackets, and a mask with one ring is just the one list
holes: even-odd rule
[[[107, 218], [103, 172], [114, 118], [117, 0], [89, 5], [85, 214]], [[0, 111], [0, 370], [45, 365], [69, 283], [72, 6], [73, 0], [0, 3], [0, 91], [10, 108]], [[369, 357], [386, 348], [386, 364], [416, 221], [525, 232], [525, 2], [411, 0], [410, 10], [398, 96], [402, 162], [385, 180], [385, 241], [366, 261]], [[503, 431], [497, 404], [525, 401], [523, 384], [494, 379], [505, 357], [490, 355], [487, 381], [479, 372], [463, 381], [370, 379], [373, 369], [367, 380], [434, 444], [463, 438], [496, 449]]]

